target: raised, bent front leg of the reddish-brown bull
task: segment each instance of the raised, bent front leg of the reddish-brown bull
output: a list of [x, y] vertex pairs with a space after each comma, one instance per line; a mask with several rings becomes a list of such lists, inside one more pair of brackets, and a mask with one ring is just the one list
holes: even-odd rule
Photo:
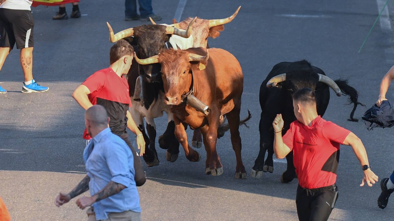
[[200, 161], [201, 157], [200, 154], [193, 150], [188, 144], [188, 137], [186, 135], [185, 126], [182, 122], [174, 116], [174, 123], [175, 123], [175, 137], [177, 137], [178, 141], [182, 145], [186, 158], [189, 161], [198, 162]]

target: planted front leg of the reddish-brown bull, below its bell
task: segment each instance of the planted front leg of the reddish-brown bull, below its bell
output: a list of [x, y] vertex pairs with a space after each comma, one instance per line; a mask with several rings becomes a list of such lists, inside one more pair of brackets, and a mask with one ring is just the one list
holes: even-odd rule
[[205, 125], [204, 127], [201, 127], [201, 133], [203, 134], [204, 138], [204, 146], [207, 152], [205, 173], [212, 174], [212, 176], [219, 176], [223, 174], [223, 166], [220, 162], [219, 155], [216, 152], [217, 127], [219, 126], [219, 116], [214, 115], [214, 110], [211, 110], [210, 114], [212, 115], [208, 118], [209, 126]]

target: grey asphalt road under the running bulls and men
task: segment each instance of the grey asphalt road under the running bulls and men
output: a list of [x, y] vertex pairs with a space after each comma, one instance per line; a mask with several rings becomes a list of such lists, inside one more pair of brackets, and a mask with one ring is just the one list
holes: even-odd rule
[[[384, 2], [383, 2], [384, 3]], [[391, 3], [390, 3], [391, 4]], [[392, 5], [389, 10], [392, 11]], [[274, 172], [262, 179], [250, 178], [259, 150], [258, 90], [273, 65], [282, 61], [309, 60], [333, 78], [349, 78], [359, 90], [359, 100], [372, 106], [379, 82], [394, 63], [391, 30], [377, 22], [361, 53], [357, 53], [378, 15], [376, 1], [358, 0], [201, 0], [188, 1], [182, 14], [204, 19], [230, 16], [242, 8], [234, 21], [210, 47], [232, 52], [245, 75], [241, 117], [251, 111], [250, 129], [241, 127], [243, 162], [247, 180], [235, 180], [235, 154], [229, 134], [217, 142], [224, 167], [221, 176], [204, 174], [201, 161], [189, 162], [182, 154], [175, 163], [165, 160], [158, 149], [160, 165], [144, 167], [149, 180], [138, 188], [144, 220], [297, 220], [297, 180], [281, 184], [284, 163], [274, 163]], [[155, 13], [170, 23], [178, 0], [153, 1]], [[49, 86], [42, 94], [22, 94], [19, 52], [14, 50], [0, 73], [1, 86], [9, 90], [0, 96], [0, 196], [15, 221], [85, 220], [85, 212], [74, 204], [57, 208], [59, 191], [70, 191], [84, 176], [82, 151], [83, 113], [72, 99], [72, 91], [93, 72], [108, 67], [109, 49], [106, 21], [115, 32], [143, 24], [124, 21], [123, 1], [84, 0], [80, 19], [52, 21], [57, 7], [33, 8], [35, 19], [33, 75]], [[71, 5], [67, 5], [71, 13]], [[391, 21], [392, 22], [392, 21]], [[394, 96], [389, 90], [387, 97]], [[366, 146], [372, 170], [379, 178], [393, 169], [392, 129], [367, 131], [364, 123], [348, 122], [351, 107], [346, 97], [331, 92], [324, 116], [350, 129]], [[358, 108], [360, 118], [366, 108]], [[156, 120], [158, 135], [166, 118]], [[189, 140], [191, 131], [188, 130]], [[158, 145], [156, 145], [158, 146]], [[377, 207], [379, 185], [359, 187], [362, 171], [348, 146], [342, 146], [337, 185], [339, 199], [330, 220], [392, 220], [394, 199], [388, 207]]]

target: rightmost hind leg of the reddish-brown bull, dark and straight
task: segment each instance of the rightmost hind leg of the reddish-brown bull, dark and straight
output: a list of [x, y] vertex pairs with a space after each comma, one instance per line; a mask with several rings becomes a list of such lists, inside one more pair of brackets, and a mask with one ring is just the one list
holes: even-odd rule
[[226, 116], [230, 127], [232, 149], [235, 152], [235, 157], [237, 162], [234, 178], [246, 179], [246, 171], [245, 171], [245, 167], [243, 166], [242, 157], [241, 157], [242, 142], [241, 142], [240, 131], [239, 131], [240, 111], [241, 111], [240, 107], [234, 107], [234, 109], [232, 109], [232, 111], [227, 113]]

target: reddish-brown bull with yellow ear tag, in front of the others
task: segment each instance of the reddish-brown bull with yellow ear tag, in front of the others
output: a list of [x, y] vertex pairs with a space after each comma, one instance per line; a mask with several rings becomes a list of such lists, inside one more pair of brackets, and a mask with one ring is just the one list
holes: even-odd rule
[[[205, 56], [203, 56], [205, 55]], [[139, 64], [160, 63], [165, 91], [165, 103], [173, 105], [175, 136], [182, 144], [186, 158], [199, 161], [200, 155], [187, 141], [185, 126], [200, 128], [206, 150], [206, 174], [213, 176], [223, 173], [216, 152], [217, 129], [227, 116], [231, 143], [236, 155], [235, 178], [246, 178], [241, 158], [241, 137], [239, 133], [243, 74], [238, 60], [223, 49], [190, 48], [168, 50], [151, 58], [139, 60]], [[209, 106], [208, 115], [197, 111], [184, 102], [185, 95], [195, 97]]]

